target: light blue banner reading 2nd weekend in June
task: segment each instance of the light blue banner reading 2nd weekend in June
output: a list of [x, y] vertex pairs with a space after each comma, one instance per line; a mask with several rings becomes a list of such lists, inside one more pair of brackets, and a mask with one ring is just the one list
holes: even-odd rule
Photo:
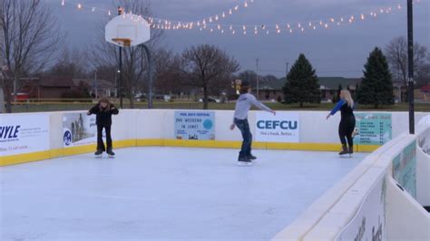
[[175, 111], [177, 140], [215, 140], [214, 111]]

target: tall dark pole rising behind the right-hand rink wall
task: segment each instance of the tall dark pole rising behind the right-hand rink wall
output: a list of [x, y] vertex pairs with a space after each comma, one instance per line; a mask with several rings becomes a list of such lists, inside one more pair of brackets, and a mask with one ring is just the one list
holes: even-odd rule
[[414, 110], [414, 19], [413, 0], [407, 0], [407, 60], [408, 60], [408, 85], [409, 91], [409, 133], [415, 134], [415, 110]]

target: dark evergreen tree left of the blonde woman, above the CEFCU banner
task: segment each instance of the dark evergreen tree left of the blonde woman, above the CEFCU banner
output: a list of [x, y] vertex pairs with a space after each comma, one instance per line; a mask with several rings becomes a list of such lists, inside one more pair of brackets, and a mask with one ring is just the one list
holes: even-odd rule
[[286, 103], [299, 103], [300, 107], [303, 107], [305, 102], [321, 102], [318, 77], [305, 54], [300, 53], [288, 72], [283, 91]]

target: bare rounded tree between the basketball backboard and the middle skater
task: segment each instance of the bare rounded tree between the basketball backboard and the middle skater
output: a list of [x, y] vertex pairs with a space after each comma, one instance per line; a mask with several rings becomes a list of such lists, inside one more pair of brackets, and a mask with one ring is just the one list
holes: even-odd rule
[[[182, 53], [190, 83], [203, 91], [203, 109], [208, 109], [210, 88], [220, 79], [239, 71], [239, 63], [225, 51], [210, 44], [192, 46]], [[227, 83], [230, 85], [230, 83]], [[226, 86], [228, 88], [228, 86]]]

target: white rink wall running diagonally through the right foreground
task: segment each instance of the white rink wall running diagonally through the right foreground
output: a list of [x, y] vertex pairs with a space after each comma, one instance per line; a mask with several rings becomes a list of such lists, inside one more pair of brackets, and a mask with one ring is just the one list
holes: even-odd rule
[[[428, 152], [415, 145], [416, 198], [393, 178], [393, 161], [408, 146], [417, 140], [429, 146], [429, 120], [430, 115], [415, 126], [415, 135], [400, 134], [367, 156], [274, 240], [354, 240], [357, 236], [363, 240], [430, 240], [430, 215], [423, 207], [430, 200]], [[377, 186], [376, 180], [381, 178], [382, 185]], [[385, 198], [379, 207], [367, 201], [375, 198], [377, 188]]]

